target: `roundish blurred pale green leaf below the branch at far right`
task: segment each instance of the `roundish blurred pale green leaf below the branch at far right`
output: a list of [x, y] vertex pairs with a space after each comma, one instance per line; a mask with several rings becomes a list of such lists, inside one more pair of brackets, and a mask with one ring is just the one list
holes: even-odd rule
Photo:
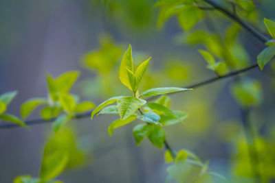
[[241, 80], [232, 84], [232, 95], [241, 106], [256, 106], [263, 100], [261, 84], [256, 80]]

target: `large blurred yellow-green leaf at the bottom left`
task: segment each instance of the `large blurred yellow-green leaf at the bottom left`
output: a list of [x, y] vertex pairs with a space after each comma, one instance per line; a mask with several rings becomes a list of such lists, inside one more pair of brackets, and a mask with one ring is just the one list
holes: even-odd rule
[[63, 172], [68, 160], [69, 156], [66, 151], [55, 151], [50, 155], [43, 156], [40, 178], [42, 180], [56, 178]]

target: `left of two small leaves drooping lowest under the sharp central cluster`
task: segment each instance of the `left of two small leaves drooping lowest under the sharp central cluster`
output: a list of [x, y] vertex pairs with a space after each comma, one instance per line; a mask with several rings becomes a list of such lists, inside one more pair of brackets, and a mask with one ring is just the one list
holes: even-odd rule
[[144, 137], [151, 134], [152, 130], [153, 130], [153, 125], [148, 125], [148, 124], [136, 125], [133, 128], [133, 136], [135, 137], [135, 143], [137, 145], [140, 145]]

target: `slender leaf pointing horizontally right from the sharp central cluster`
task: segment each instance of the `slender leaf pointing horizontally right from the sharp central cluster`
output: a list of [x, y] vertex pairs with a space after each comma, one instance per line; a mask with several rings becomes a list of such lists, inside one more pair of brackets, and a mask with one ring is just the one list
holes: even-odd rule
[[157, 95], [164, 95], [166, 93], [175, 93], [184, 90], [192, 90], [188, 88], [177, 88], [177, 87], [163, 87], [163, 88], [151, 88], [149, 90], [144, 91], [140, 96], [150, 97]]

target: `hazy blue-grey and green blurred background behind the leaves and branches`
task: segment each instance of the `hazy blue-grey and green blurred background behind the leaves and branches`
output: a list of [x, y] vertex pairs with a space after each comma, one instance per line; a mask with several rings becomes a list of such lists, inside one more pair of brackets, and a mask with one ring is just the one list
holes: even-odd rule
[[[72, 93], [96, 104], [111, 96], [131, 95], [118, 80], [122, 53], [129, 44], [133, 47], [135, 64], [152, 56], [142, 90], [183, 87], [214, 77], [197, 51], [209, 45], [192, 42], [188, 35], [207, 29], [211, 34], [224, 36], [232, 23], [222, 14], [206, 12], [192, 32], [184, 32], [176, 17], [159, 28], [156, 2], [0, 1], [0, 93], [19, 92], [8, 112], [19, 116], [21, 103], [32, 97], [47, 97], [45, 73], [57, 77], [65, 71], [80, 71]], [[274, 1], [255, 1], [255, 8], [253, 20], [245, 19], [267, 34], [263, 17], [274, 20]], [[237, 42], [241, 48], [235, 50], [243, 52], [236, 58], [244, 60], [244, 64], [232, 69], [255, 63], [256, 56], [265, 47], [243, 30]], [[259, 141], [265, 139], [262, 149], [268, 147], [273, 157], [275, 79], [272, 63], [270, 65], [265, 74], [256, 68], [242, 77], [261, 84], [256, 95], [263, 97], [250, 108], [250, 119], [259, 133]], [[242, 164], [248, 164], [248, 160], [242, 159], [246, 156], [245, 150], [238, 146], [244, 139], [241, 107], [230, 93], [232, 81], [229, 78], [192, 92], [171, 95], [171, 108], [188, 112], [188, 118], [184, 125], [164, 130], [174, 149], [193, 151], [203, 162], [209, 160], [212, 171], [226, 178], [246, 180], [242, 166], [245, 169], [247, 165]], [[38, 118], [39, 110], [36, 110], [30, 119]], [[132, 134], [135, 122], [118, 128], [110, 137], [107, 127], [113, 120], [113, 116], [99, 115], [93, 121], [87, 118], [69, 122], [67, 126], [76, 136], [77, 146], [85, 158], [78, 166], [68, 168], [58, 180], [165, 182], [168, 165], [164, 162], [164, 149], [151, 145], [148, 139], [140, 146], [135, 145]], [[30, 132], [20, 127], [0, 131], [0, 182], [12, 182], [18, 175], [39, 176], [43, 147], [52, 134], [52, 125], [32, 125], [30, 129]], [[274, 162], [274, 158], [270, 160]], [[272, 169], [273, 165], [270, 166]]]

